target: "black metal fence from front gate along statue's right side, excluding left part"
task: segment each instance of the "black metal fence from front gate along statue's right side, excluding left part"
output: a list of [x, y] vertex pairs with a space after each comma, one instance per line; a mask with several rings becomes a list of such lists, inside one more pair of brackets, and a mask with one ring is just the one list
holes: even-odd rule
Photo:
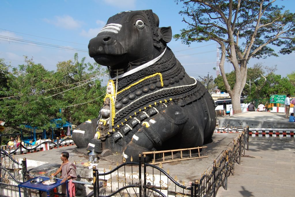
[[[245, 149], [249, 147], [249, 127], [247, 128], [223, 128], [221, 133], [240, 133], [228, 150], [224, 150], [220, 158], [214, 159], [211, 169], [206, 169], [199, 180], [193, 180], [191, 185], [185, 185], [169, 175], [169, 171], [162, 169], [162, 164], [155, 166], [146, 162], [143, 155], [143, 165], [140, 165], [142, 156], [139, 155], [139, 163], [123, 163], [115, 169], [99, 173], [93, 168], [94, 197], [109, 196], [216, 196], [221, 186], [227, 190], [227, 177], [234, 174], [235, 163], [240, 164], [241, 156], [245, 155]], [[247, 146], [247, 148], [245, 148]], [[141, 168], [143, 167], [143, 174]], [[126, 171], [126, 168], [129, 168]], [[122, 170], [123, 169], [123, 170]], [[136, 172], [135, 172], [136, 170]], [[129, 173], [128, 173], [129, 172]], [[130, 173], [131, 172], [131, 173]], [[143, 180], [141, 180], [143, 178]], [[142, 184], [143, 182], [143, 184]]]

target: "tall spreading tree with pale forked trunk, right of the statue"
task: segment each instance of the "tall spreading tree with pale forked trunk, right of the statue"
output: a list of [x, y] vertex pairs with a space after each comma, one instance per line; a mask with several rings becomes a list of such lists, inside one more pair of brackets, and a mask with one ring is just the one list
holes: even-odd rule
[[[275, 1], [180, 0], [184, 9], [179, 13], [186, 16], [183, 21], [188, 27], [174, 38], [185, 44], [213, 40], [220, 45], [219, 67], [224, 87], [232, 98], [233, 113], [241, 113], [240, 96], [246, 84], [249, 60], [278, 56], [270, 45], [281, 47], [279, 54], [295, 50], [295, 14], [288, 10], [282, 13], [284, 6], [274, 5]], [[235, 70], [233, 86], [224, 72], [225, 59]]]

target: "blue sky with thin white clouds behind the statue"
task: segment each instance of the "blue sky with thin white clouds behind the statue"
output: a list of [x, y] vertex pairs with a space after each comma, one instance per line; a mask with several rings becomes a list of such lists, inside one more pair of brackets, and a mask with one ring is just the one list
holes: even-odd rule
[[[294, 0], [278, 3], [295, 12]], [[178, 14], [182, 6], [174, 0], [1, 0], [0, 58], [4, 58], [6, 64], [17, 67], [24, 64], [25, 55], [45, 69], [55, 70], [58, 62], [73, 59], [78, 52], [79, 60], [86, 57], [86, 62], [94, 63], [88, 55], [87, 46], [109, 17], [121, 11], [152, 9], [159, 16], [159, 26], [171, 26], [174, 35], [186, 28], [183, 16]], [[200, 80], [209, 73], [209, 76], [216, 77], [213, 70], [217, 67], [216, 42], [195, 42], [188, 46], [172, 39], [167, 45], [190, 76]], [[286, 77], [294, 71], [294, 61], [295, 53], [292, 53], [251, 59], [248, 67], [255, 63], [277, 65], [276, 74]], [[233, 67], [225, 62], [224, 70], [230, 72]]]

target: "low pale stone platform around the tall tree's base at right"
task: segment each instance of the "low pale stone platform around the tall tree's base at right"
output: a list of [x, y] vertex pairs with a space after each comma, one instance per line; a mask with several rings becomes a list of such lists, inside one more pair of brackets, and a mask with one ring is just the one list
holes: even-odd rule
[[218, 127], [245, 128], [295, 128], [295, 123], [285, 118], [286, 113], [246, 111], [232, 116], [219, 116]]

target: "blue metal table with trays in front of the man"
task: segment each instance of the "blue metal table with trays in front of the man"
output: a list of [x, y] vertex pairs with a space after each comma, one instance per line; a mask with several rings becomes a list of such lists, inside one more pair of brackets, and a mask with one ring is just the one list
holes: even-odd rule
[[[24, 183], [21, 183], [18, 185], [19, 187], [19, 197], [21, 197], [21, 193], [20, 193], [20, 188], [23, 187], [23, 188], [30, 188], [30, 189], [36, 189], [36, 190], [39, 190], [40, 191], [45, 191], [47, 193], [47, 196], [50, 196], [50, 191], [53, 190], [54, 188], [64, 184], [64, 183], [60, 183], [60, 181], [62, 181], [63, 179], [60, 179], [60, 178], [57, 178], [57, 182], [53, 185], [50, 185], [50, 186], [46, 186], [46, 185], [43, 185], [42, 183], [39, 183], [39, 184], [32, 184], [30, 183], [30, 181], [36, 179], [36, 178], [43, 178], [44, 181], [46, 180], [49, 180], [49, 177], [44, 177], [44, 176], [38, 176], [38, 177], [35, 177], [29, 181], [26, 181]], [[65, 182], [66, 184], [66, 187], [67, 187], [67, 193], [68, 193], [68, 181]], [[68, 194], [69, 196], [69, 194]]]

